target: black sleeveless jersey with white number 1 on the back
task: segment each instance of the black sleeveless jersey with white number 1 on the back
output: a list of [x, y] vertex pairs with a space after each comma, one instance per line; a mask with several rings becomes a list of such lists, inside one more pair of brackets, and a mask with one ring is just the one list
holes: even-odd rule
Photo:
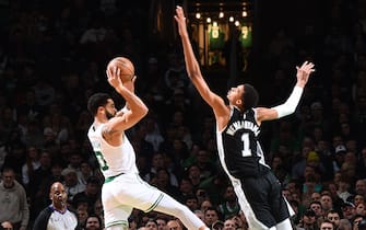
[[232, 107], [227, 126], [223, 131], [217, 130], [221, 163], [235, 177], [259, 176], [270, 171], [258, 141], [260, 126], [255, 116], [252, 108], [241, 114]]

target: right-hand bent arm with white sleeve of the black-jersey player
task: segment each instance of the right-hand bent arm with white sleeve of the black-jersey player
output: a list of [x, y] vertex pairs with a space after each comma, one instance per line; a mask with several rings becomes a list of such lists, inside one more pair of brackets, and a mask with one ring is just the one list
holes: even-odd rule
[[258, 107], [257, 120], [259, 123], [263, 120], [278, 119], [295, 112], [298, 102], [302, 99], [304, 88], [309, 80], [309, 76], [311, 72], [315, 71], [314, 64], [308, 61], [305, 61], [302, 67], [296, 67], [296, 69], [297, 82], [287, 101], [281, 105], [271, 108]]

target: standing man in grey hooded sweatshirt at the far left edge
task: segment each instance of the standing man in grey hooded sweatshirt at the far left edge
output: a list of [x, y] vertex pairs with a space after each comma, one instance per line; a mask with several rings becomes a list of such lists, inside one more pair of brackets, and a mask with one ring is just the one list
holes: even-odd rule
[[4, 168], [0, 182], [0, 222], [10, 221], [13, 230], [26, 230], [29, 208], [24, 187], [15, 181], [13, 169]]

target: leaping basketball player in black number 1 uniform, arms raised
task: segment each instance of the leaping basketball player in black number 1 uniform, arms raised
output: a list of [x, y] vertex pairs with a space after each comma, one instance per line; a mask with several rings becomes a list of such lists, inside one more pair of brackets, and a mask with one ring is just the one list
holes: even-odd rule
[[256, 107], [258, 93], [250, 84], [232, 88], [226, 95], [229, 102], [226, 105], [222, 97], [210, 90], [202, 77], [189, 41], [181, 7], [176, 8], [175, 20], [178, 24], [188, 76], [213, 110], [220, 161], [232, 181], [249, 228], [293, 229], [290, 217], [294, 212], [281, 193], [279, 180], [265, 164], [258, 135], [262, 122], [294, 113], [304, 87], [310, 73], [315, 71], [314, 64], [305, 61], [302, 67], [296, 67], [296, 85], [282, 105], [271, 108]]

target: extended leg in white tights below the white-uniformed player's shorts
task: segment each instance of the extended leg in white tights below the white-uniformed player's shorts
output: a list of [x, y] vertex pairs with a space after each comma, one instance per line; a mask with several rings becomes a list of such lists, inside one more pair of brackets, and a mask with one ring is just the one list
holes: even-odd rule
[[154, 210], [179, 218], [188, 229], [209, 229], [187, 206], [180, 204], [167, 194], [164, 194]]

